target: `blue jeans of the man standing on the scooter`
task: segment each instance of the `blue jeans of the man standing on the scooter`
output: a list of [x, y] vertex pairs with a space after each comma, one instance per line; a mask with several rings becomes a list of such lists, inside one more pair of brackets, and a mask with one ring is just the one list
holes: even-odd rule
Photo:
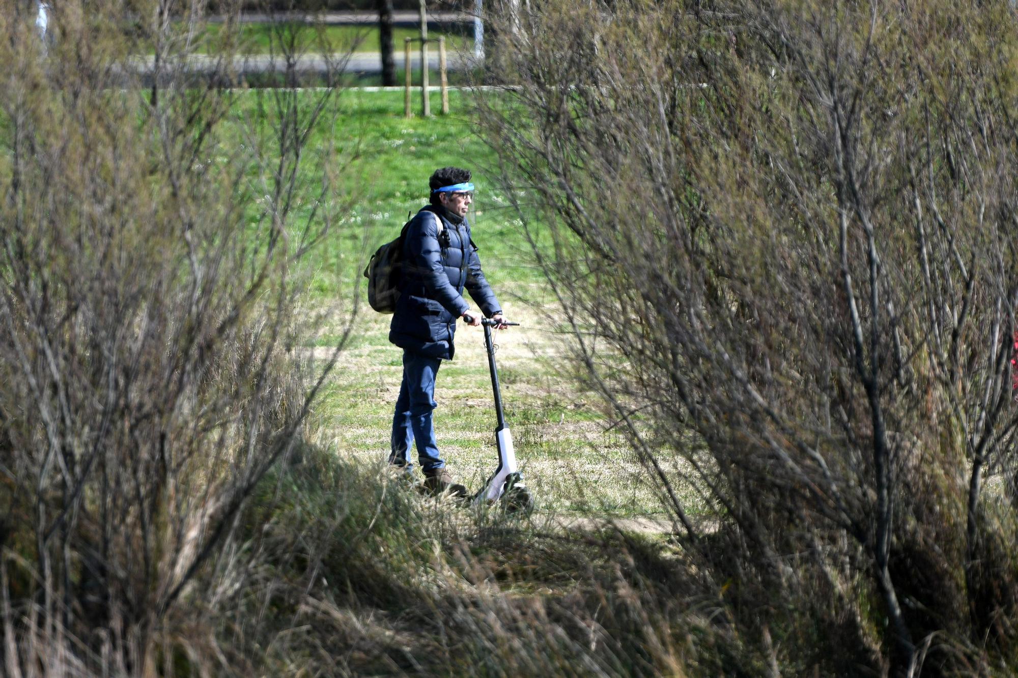
[[439, 456], [432, 411], [435, 409], [435, 376], [441, 358], [428, 357], [413, 351], [403, 351], [403, 383], [396, 399], [396, 412], [392, 417], [392, 454], [389, 463], [413, 465], [407, 458], [410, 443], [417, 442], [417, 460], [423, 470], [445, 466]]

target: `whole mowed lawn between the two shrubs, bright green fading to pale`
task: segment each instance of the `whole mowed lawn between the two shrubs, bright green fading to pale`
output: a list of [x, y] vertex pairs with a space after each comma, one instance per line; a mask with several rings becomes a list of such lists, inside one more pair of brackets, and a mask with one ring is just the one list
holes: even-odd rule
[[[497, 359], [506, 418], [527, 485], [545, 513], [629, 516], [659, 511], [623, 438], [605, 432], [596, 397], [576, 390], [567, 374], [563, 337], [547, 322], [554, 294], [529, 264], [529, 247], [504, 196], [484, 172], [490, 152], [473, 135], [465, 104], [453, 93], [453, 115], [407, 120], [391, 93], [342, 95], [335, 133], [360, 149], [349, 172], [357, 201], [338, 231], [316, 253], [310, 305], [326, 309], [321, 334], [305, 349], [330, 353], [350, 301], [359, 295], [353, 338], [314, 409], [316, 438], [364, 463], [389, 453], [393, 404], [402, 376], [401, 349], [388, 341], [391, 316], [366, 302], [360, 278], [369, 250], [395, 237], [426, 203], [429, 175], [458, 165], [474, 172], [469, 216], [486, 275], [508, 317], [521, 327], [498, 332]], [[473, 306], [476, 307], [475, 305]], [[334, 309], [334, 310], [330, 310]], [[444, 361], [436, 389], [435, 426], [450, 468], [471, 491], [497, 463], [496, 417], [480, 328], [460, 324], [456, 355]]]

